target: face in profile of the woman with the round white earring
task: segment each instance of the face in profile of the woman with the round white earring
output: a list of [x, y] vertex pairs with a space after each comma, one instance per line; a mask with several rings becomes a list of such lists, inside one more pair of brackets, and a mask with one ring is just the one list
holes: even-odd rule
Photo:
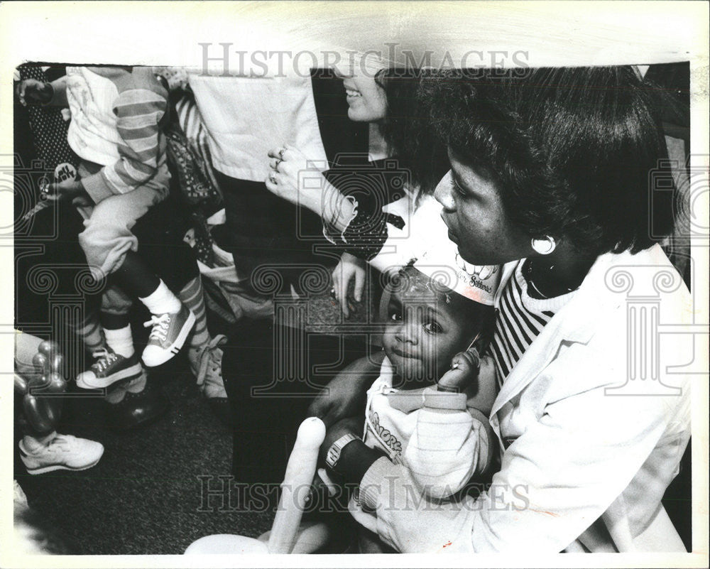
[[442, 178], [435, 197], [443, 206], [449, 239], [459, 246], [464, 261], [498, 265], [530, 254], [530, 239], [503, 210], [498, 188], [449, 151], [451, 170]]

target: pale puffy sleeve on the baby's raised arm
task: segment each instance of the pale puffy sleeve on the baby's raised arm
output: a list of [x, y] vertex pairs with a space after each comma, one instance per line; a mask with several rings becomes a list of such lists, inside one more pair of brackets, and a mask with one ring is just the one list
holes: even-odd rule
[[456, 494], [493, 463], [495, 435], [488, 418], [466, 406], [466, 394], [427, 388], [424, 407], [403, 453], [403, 462], [430, 498]]

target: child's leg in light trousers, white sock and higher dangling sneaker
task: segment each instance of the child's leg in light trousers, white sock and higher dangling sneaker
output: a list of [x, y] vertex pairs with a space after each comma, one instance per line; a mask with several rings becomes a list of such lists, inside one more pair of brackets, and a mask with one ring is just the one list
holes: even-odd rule
[[79, 236], [92, 271], [113, 273], [116, 283], [129, 296], [137, 296], [153, 314], [147, 323], [153, 330], [143, 351], [148, 367], [163, 364], [177, 354], [195, 323], [190, 310], [136, 254], [138, 239], [131, 228], [161, 199], [155, 188], [148, 187], [107, 197], [94, 207]]

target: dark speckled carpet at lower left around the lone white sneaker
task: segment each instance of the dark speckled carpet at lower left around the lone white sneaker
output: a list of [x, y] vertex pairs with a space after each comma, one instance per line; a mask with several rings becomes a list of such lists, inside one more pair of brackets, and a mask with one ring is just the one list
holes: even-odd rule
[[[152, 378], [170, 399], [152, 425], [116, 433], [104, 424], [102, 401], [65, 406], [60, 432], [103, 443], [96, 467], [29, 476], [16, 455], [15, 477], [31, 508], [76, 553], [182, 553], [209, 533], [257, 536], [270, 528], [268, 507], [241, 508], [234, 486], [230, 502], [234, 481], [218, 477], [231, 472], [231, 433], [200, 396], [184, 356], [177, 359]], [[225, 492], [204, 502], [204, 484]]]

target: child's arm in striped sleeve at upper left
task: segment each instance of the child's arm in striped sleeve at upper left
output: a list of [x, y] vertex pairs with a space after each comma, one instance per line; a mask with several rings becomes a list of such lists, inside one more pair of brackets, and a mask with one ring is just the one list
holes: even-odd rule
[[123, 140], [118, 147], [119, 161], [82, 179], [94, 202], [129, 193], [151, 180], [159, 168], [167, 168], [160, 150], [159, 126], [167, 109], [168, 99], [154, 90], [121, 92], [114, 106], [116, 129]]

